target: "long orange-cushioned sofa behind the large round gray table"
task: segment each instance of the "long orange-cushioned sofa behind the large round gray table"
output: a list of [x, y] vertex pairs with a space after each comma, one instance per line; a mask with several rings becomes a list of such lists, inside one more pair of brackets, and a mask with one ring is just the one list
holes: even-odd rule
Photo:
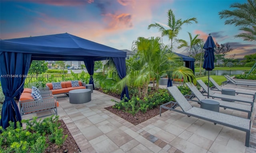
[[50, 91], [52, 91], [52, 94], [66, 94], [68, 95], [68, 92], [70, 90], [74, 89], [86, 89], [86, 84], [84, 82], [78, 81], [79, 86], [72, 87], [71, 81], [65, 81], [65, 82], [60, 82], [61, 87], [58, 89], [53, 88], [54, 83], [46, 83], [46, 87], [49, 88]]

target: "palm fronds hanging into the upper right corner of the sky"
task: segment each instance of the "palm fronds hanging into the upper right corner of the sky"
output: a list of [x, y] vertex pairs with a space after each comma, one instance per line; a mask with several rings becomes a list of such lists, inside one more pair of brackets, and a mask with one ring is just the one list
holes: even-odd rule
[[235, 35], [245, 41], [256, 41], [256, 0], [247, 0], [248, 3], [234, 3], [230, 8], [234, 10], [223, 10], [219, 12], [221, 19], [227, 19], [225, 25], [235, 25], [240, 27], [239, 30], [244, 32]]

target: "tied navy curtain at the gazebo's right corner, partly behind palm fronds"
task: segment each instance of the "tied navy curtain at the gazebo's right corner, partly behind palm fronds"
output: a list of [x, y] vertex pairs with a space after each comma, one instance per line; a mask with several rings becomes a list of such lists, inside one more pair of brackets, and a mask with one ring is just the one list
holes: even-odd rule
[[[125, 57], [113, 57], [114, 63], [116, 65], [116, 69], [118, 72], [119, 77], [122, 79], [126, 76], [126, 64], [125, 64]], [[121, 93], [121, 100], [125, 96], [130, 99], [129, 92], [128, 92], [128, 87], [125, 86], [122, 93]]]

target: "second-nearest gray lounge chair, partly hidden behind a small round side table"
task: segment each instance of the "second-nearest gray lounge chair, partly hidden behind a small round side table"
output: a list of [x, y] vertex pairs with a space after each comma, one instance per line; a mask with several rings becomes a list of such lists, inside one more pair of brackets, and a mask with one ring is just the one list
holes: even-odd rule
[[[191, 99], [191, 101], [195, 101], [195, 102], [200, 103], [201, 100], [210, 99], [210, 98], [206, 98], [204, 95], [202, 95], [201, 92], [196, 88], [196, 86], [194, 86], [193, 83], [186, 82], [186, 85], [193, 92], [193, 96], [195, 96], [198, 99], [198, 101], [197, 100], [192, 100], [192, 99]], [[234, 103], [234, 102], [225, 102], [225, 101], [222, 101], [222, 100], [215, 100], [215, 101], [219, 102], [220, 103], [220, 107], [223, 107], [224, 110], [226, 110], [226, 108], [229, 108], [229, 109], [232, 109], [232, 110], [238, 110], [238, 111], [242, 111], [242, 112], [247, 112], [248, 113], [247, 118], [248, 119], [251, 118], [252, 106], [243, 105], [243, 104], [237, 104], [237, 103]]]

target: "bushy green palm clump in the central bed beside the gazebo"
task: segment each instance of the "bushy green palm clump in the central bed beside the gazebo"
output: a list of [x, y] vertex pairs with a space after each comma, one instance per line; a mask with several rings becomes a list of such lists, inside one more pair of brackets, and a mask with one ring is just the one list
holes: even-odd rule
[[[125, 85], [138, 89], [140, 98], [146, 97], [148, 93], [148, 84], [150, 78], [153, 78], [156, 84], [153, 87], [159, 88], [159, 80], [163, 74], [167, 74], [170, 78], [172, 74], [176, 77], [183, 77], [185, 80], [192, 80], [194, 78], [193, 71], [186, 67], [182, 67], [181, 59], [178, 55], [170, 52], [168, 46], [162, 44], [160, 37], [151, 37], [146, 39], [138, 37], [132, 44], [132, 50], [137, 53], [126, 61], [127, 75], [122, 80], [118, 77], [115, 67], [110, 67], [108, 63], [105, 65], [110, 67], [107, 70], [111, 76], [97, 75], [94, 77], [100, 84], [108, 88], [108, 90], [122, 91]], [[113, 65], [113, 64], [112, 64]], [[115, 71], [110, 71], [115, 70]]]

